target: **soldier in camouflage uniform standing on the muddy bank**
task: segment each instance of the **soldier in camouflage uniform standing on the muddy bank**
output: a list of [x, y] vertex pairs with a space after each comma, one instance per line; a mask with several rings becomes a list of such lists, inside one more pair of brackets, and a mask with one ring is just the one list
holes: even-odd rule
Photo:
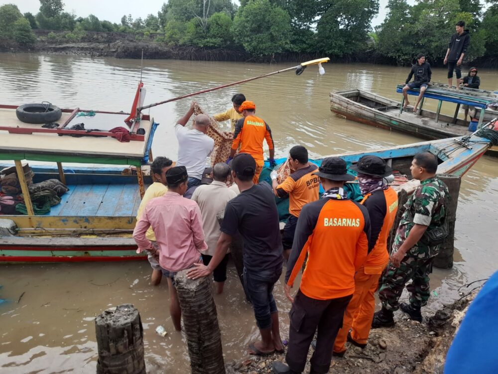
[[[429, 274], [432, 260], [441, 244], [435, 241], [436, 231], [444, 232], [448, 188], [436, 177], [436, 156], [429, 152], [415, 155], [411, 174], [420, 181], [404, 207], [394, 237], [390, 264], [382, 277], [378, 296], [382, 309], [374, 314], [372, 328], [394, 326], [393, 312], [401, 308], [414, 321], [422, 322], [420, 308], [429, 299]], [[434, 230], [436, 229], [436, 231]], [[443, 235], [444, 236], [444, 235]], [[398, 303], [405, 284], [410, 303]]]

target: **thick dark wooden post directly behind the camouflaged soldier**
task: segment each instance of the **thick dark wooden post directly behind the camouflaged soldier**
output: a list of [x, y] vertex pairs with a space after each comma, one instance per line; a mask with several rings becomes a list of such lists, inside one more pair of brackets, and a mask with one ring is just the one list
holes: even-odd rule
[[462, 179], [452, 174], [438, 175], [439, 179], [448, 186], [450, 198], [446, 210], [446, 219], [448, 221], [448, 237], [441, 244], [439, 254], [434, 258], [433, 265], [440, 269], [451, 269], [453, 267], [453, 251], [455, 240], [455, 221], [457, 216], [458, 195]]

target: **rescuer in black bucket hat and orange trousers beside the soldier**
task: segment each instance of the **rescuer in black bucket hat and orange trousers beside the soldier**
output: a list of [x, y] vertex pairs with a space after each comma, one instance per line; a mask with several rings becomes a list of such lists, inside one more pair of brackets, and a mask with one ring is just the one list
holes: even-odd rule
[[[375, 291], [382, 271], [389, 263], [387, 238], [398, 210], [398, 194], [387, 185], [392, 170], [380, 157], [363, 156], [351, 170], [358, 172], [358, 182], [365, 196], [362, 204], [368, 209], [372, 231], [369, 255], [355, 275], [355, 293], [348, 304], [341, 330], [334, 343], [334, 356], [344, 356], [346, 341], [364, 348], [369, 339], [375, 312]], [[350, 331], [351, 329], [351, 331]]]

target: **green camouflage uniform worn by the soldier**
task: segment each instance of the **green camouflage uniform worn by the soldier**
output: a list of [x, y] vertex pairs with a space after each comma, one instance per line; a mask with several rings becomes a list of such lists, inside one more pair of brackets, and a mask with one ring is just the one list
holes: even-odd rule
[[[406, 240], [414, 224], [428, 226], [428, 230], [440, 226], [446, 215], [445, 196], [448, 187], [439, 178], [429, 178], [420, 183], [406, 204], [399, 222], [392, 253], [395, 253]], [[406, 286], [410, 292], [410, 304], [422, 307], [429, 299], [429, 274], [432, 272], [432, 259], [439, 253], [439, 245], [428, 245], [418, 241], [401, 260], [398, 268], [389, 264], [382, 277], [379, 298], [385, 309], [395, 311], [399, 308], [398, 299]]]

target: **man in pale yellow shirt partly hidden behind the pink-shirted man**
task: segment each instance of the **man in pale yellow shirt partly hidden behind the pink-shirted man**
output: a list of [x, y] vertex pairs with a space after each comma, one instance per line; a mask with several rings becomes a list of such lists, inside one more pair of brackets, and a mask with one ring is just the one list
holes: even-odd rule
[[[166, 172], [172, 168], [172, 165], [173, 162], [166, 157], [156, 157], [154, 159], [154, 162], [150, 167], [150, 173], [153, 183], [147, 188], [145, 194], [143, 195], [142, 201], [140, 202], [140, 206], [138, 207], [138, 211], [136, 213], [137, 221], [150, 199], [154, 197], [160, 197], [168, 191], [168, 187], [166, 187]], [[155, 245], [155, 235], [154, 231], [152, 231], [152, 227], [149, 227], [147, 229], [145, 237], [152, 242], [152, 245]], [[150, 266], [152, 267], [150, 283], [152, 283], [152, 285], [154, 286], [157, 286], [161, 282], [162, 278], [158, 257], [153, 256], [149, 253], [147, 259], [149, 260]]]

